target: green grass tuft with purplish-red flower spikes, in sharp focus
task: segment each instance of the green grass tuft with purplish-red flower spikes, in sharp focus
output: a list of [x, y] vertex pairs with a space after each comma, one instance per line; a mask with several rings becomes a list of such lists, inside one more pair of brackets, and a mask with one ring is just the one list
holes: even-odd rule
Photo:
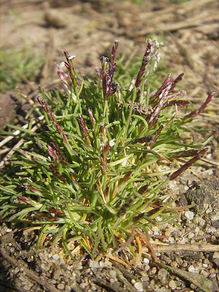
[[81, 248], [95, 256], [110, 247], [136, 256], [135, 245], [141, 256], [148, 226], [176, 218], [162, 187], [207, 151], [211, 137], [197, 144], [191, 121], [213, 92], [200, 109], [185, 114], [186, 92], [175, 90], [183, 74], [168, 74], [150, 91], [159, 46], [148, 40], [128, 85], [126, 78], [114, 80], [117, 40], [93, 81], [76, 75], [74, 56], [63, 50], [58, 75], [64, 91], [37, 97], [46, 126], [39, 122], [34, 133], [30, 123], [27, 142], [12, 159], [16, 175], [4, 174], [0, 181], [1, 218], [41, 226], [37, 246], [51, 234], [70, 256]]

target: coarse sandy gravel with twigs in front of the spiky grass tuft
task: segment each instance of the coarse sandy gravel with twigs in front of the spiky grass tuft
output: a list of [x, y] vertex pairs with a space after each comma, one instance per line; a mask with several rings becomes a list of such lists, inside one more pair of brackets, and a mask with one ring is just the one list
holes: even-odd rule
[[[50, 237], [42, 249], [36, 250], [37, 230], [25, 232], [23, 226], [14, 229], [3, 223], [0, 291], [218, 291], [219, 179], [196, 177], [197, 181], [189, 186], [189, 178], [194, 180], [194, 175], [186, 173], [182, 180], [186, 178], [188, 186], [177, 181], [169, 188], [182, 193], [181, 205], [195, 202], [195, 207], [181, 212], [176, 221], [179, 226], [157, 225], [150, 230], [154, 235], [150, 242], [160, 263], [154, 262], [146, 246], [136, 268], [126, 250], [122, 256], [130, 262], [130, 268], [110, 259], [112, 251], [95, 260], [81, 254], [71, 259], [58, 245], [49, 247]], [[172, 207], [177, 206], [174, 203]], [[166, 238], [156, 238], [159, 235]]]

